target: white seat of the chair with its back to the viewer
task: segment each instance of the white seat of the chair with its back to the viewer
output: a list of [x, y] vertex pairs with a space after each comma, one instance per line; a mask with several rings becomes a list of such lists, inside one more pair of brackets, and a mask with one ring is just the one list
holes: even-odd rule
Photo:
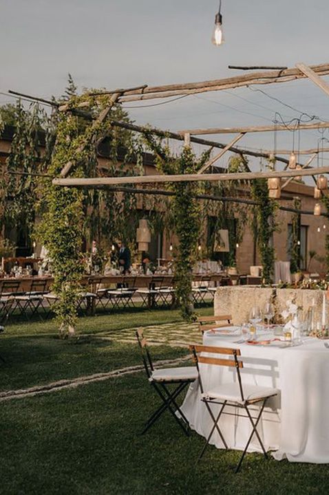
[[241, 399], [240, 387], [237, 383], [223, 384], [213, 388], [211, 391], [204, 392], [204, 399], [222, 399], [237, 404], [246, 404], [255, 399], [265, 399], [279, 393], [277, 388], [263, 387], [258, 385], [243, 385], [244, 401]]

